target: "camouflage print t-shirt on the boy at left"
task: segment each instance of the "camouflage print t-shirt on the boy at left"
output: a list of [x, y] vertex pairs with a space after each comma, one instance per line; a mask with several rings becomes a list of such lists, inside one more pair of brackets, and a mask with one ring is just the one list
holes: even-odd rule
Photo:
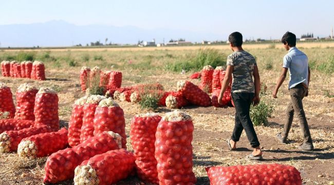
[[233, 66], [232, 93], [254, 93], [253, 72], [256, 66], [253, 55], [235, 51], [227, 57], [227, 65]]

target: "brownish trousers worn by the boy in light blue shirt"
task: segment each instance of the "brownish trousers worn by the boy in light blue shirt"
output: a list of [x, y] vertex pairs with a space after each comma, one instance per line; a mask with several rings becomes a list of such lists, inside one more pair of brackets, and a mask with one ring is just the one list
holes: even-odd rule
[[297, 86], [289, 89], [291, 102], [289, 103], [286, 109], [287, 122], [284, 125], [284, 131], [281, 133], [281, 135], [284, 139], [288, 138], [289, 131], [292, 125], [293, 114], [296, 113], [304, 136], [304, 142], [312, 144], [312, 138], [305, 117], [305, 112], [302, 102], [306, 93], [307, 93], [307, 88], [304, 87], [302, 84], [298, 84]]

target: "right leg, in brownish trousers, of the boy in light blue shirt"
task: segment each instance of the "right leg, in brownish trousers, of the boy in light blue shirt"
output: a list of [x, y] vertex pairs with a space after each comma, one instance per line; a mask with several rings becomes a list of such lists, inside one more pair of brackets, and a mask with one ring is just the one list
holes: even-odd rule
[[313, 145], [302, 102], [304, 96], [306, 95], [306, 92], [307, 89], [305, 87], [291, 88], [289, 90], [292, 106], [294, 112], [299, 118], [299, 123], [303, 132], [304, 143]]

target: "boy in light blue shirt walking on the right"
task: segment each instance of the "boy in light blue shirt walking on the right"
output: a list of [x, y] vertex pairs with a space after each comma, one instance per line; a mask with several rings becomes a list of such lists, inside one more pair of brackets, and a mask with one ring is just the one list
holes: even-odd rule
[[289, 103], [286, 115], [287, 121], [284, 125], [282, 133], [277, 134], [280, 143], [288, 144], [287, 138], [292, 125], [294, 113], [298, 116], [300, 127], [303, 132], [304, 142], [299, 146], [300, 150], [313, 150], [310, 130], [305, 117], [303, 108], [303, 98], [308, 96], [308, 85], [310, 82], [310, 68], [308, 66], [308, 58], [305, 53], [295, 47], [296, 36], [291, 32], [286, 32], [282, 37], [284, 48], [289, 51], [283, 58], [283, 69], [280, 78], [277, 80], [276, 86], [272, 92], [273, 98], [277, 98], [277, 91], [284, 82], [287, 71], [290, 73], [289, 94], [291, 102]]

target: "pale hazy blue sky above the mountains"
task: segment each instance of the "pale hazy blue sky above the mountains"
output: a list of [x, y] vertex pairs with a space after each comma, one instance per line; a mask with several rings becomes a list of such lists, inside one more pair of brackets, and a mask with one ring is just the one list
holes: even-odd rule
[[226, 40], [233, 31], [244, 37], [281, 38], [287, 30], [328, 36], [334, 26], [334, 1], [224, 0], [57, 0], [2, 1], [0, 25], [64, 20], [76, 25], [171, 28], [215, 33]]

